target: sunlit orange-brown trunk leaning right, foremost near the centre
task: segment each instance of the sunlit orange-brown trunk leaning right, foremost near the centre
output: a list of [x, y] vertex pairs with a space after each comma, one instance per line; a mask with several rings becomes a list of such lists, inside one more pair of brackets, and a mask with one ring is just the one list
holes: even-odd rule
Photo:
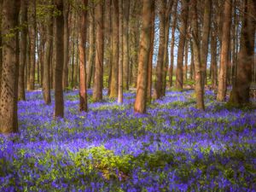
[[143, 27], [140, 40], [140, 54], [137, 76], [137, 96], [134, 104], [135, 113], [146, 113], [148, 60], [152, 33], [153, 0], [143, 0]]

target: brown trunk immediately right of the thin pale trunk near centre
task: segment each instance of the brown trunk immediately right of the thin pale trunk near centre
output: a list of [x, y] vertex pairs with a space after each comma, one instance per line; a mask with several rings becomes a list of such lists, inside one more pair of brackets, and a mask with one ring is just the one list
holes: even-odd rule
[[123, 32], [123, 47], [124, 47], [124, 85], [125, 90], [129, 90], [129, 14], [130, 14], [130, 0], [124, 0], [124, 32]]

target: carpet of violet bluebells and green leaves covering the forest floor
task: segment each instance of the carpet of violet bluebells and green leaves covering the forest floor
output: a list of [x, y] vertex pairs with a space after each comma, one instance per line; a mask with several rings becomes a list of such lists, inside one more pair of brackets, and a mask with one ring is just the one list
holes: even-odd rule
[[[89, 90], [91, 97], [91, 90]], [[0, 191], [256, 191], [256, 110], [226, 108], [206, 92], [206, 112], [193, 90], [167, 91], [134, 114], [124, 104], [65, 93], [65, 118], [41, 91], [19, 102], [18, 134], [0, 136]]]

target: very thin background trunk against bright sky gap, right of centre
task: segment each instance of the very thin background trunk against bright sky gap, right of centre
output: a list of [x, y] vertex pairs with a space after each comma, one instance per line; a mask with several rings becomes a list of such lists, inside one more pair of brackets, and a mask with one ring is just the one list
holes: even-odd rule
[[172, 40], [171, 40], [171, 59], [169, 68], [169, 83], [172, 87], [173, 61], [174, 61], [174, 45], [175, 45], [175, 31], [177, 24], [177, 0], [174, 0], [174, 14], [172, 17]]

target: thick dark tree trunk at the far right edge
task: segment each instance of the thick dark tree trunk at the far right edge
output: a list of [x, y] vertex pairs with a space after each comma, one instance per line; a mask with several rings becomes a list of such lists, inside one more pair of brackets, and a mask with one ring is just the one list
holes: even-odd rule
[[236, 82], [231, 91], [230, 103], [243, 105], [250, 102], [252, 63], [254, 60], [256, 2], [246, 0], [241, 26], [241, 44], [238, 54]]

